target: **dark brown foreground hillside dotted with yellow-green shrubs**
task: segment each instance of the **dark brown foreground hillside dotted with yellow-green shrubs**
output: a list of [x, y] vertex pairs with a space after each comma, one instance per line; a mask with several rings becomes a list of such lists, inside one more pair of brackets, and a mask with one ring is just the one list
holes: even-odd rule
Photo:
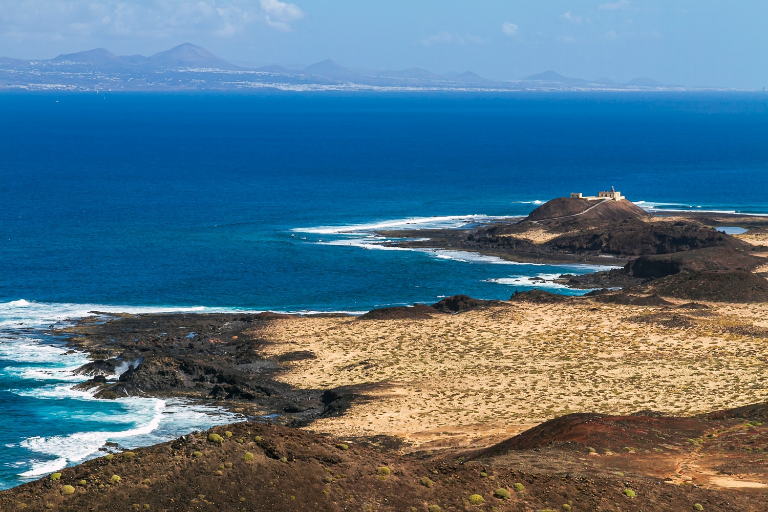
[[[725, 475], [733, 467], [759, 478], [766, 463], [754, 451], [768, 442], [768, 428], [760, 426], [764, 409], [754, 406], [746, 419], [738, 411], [698, 418], [568, 415], [474, 456], [402, 455], [300, 429], [232, 424], [2, 491], [0, 510], [580, 512], [619, 504], [660, 512], [701, 504], [757, 512], [766, 510], [760, 489], [717, 491], [710, 488], [717, 480], [676, 461], [693, 457], [713, 476], [716, 467]], [[677, 485], [683, 481], [700, 485]]]

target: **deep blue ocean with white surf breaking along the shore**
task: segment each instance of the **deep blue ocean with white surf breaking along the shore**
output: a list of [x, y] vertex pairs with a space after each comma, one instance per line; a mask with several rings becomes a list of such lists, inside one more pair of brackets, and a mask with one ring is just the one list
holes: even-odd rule
[[384, 250], [372, 230], [520, 215], [570, 192], [768, 213], [764, 93], [0, 94], [0, 120], [0, 488], [104, 441], [232, 421], [71, 391], [86, 359], [48, 325], [94, 309], [506, 299], [528, 277], [591, 269]]

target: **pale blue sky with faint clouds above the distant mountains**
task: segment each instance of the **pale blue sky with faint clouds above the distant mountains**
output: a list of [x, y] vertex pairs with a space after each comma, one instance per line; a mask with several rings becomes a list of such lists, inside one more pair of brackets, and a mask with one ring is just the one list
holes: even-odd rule
[[2, 0], [0, 55], [182, 42], [230, 61], [762, 88], [768, 2], [738, 0]]

